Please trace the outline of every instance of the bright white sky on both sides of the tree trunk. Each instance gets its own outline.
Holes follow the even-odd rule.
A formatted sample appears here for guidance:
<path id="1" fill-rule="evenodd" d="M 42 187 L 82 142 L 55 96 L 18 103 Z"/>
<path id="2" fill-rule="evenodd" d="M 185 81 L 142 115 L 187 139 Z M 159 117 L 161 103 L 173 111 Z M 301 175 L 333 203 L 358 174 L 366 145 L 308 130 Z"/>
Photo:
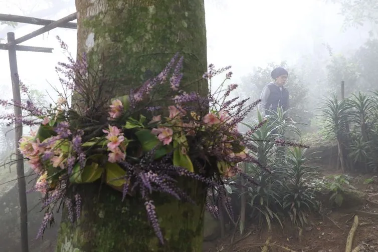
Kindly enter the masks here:
<path id="1" fill-rule="evenodd" d="M 1 13 L 24 15 L 43 8 L 51 8 L 55 1 L 62 0 L 0 0 Z M 57 20 L 75 10 L 75 1 L 68 0 L 67 8 L 49 17 Z M 216 67 L 233 66 L 234 80 L 251 73 L 254 66 L 264 66 L 268 62 L 281 60 L 295 61 L 298 56 L 312 50 L 314 29 L 319 30 L 319 16 L 324 26 L 340 27 L 342 17 L 335 8 L 324 8 L 322 0 L 207 0 L 206 22 L 208 32 L 208 63 Z M 3 26 L 2 26 L 3 27 Z M 39 26 L 27 25 L 15 29 L 16 38 L 26 35 Z M 318 31 L 319 32 L 319 31 Z M 321 31 L 320 31 L 321 33 Z M 325 40 L 338 36 L 340 30 L 328 31 Z M 52 47 L 53 54 L 18 52 L 18 69 L 21 79 L 34 88 L 44 91 L 47 81 L 58 85 L 54 71 L 57 62 L 65 59 L 56 36 L 76 53 L 76 30 L 57 28 L 43 36 L 38 36 L 22 45 Z M 329 38 L 327 38 L 329 37 Z M 3 42 L 4 43 L 4 42 Z M 348 41 L 345 41 L 347 44 Z M 12 95 L 9 73 L 8 52 L 0 51 L 0 99 Z"/>

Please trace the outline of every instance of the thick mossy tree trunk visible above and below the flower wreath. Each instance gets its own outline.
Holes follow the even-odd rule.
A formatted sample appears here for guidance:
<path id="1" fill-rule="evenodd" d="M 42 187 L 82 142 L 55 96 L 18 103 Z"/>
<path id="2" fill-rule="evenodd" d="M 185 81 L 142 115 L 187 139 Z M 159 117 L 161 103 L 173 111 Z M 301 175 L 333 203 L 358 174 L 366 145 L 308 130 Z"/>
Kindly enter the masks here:
<path id="1" fill-rule="evenodd" d="M 89 68 L 100 65 L 104 80 L 111 79 L 106 86 L 117 85 L 118 92 L 159 73 L 176 52 L 184 56 L 183 82 L 206 71 L 204 0 L 76 0 L 76 8 L 78 57 L 87 53 Z M 207 82 L 190 89 L 206 94 Z M 160 193 L 152 198 L 164 245 L 137 195 L 121 202 L 121 193 L 108 186 L 78 186 L 81 217 L 73 224 L 63 211 L 57 251 L 202 251 L 206 188 L 191 179 L 180 186 L 196 204 Z"/>

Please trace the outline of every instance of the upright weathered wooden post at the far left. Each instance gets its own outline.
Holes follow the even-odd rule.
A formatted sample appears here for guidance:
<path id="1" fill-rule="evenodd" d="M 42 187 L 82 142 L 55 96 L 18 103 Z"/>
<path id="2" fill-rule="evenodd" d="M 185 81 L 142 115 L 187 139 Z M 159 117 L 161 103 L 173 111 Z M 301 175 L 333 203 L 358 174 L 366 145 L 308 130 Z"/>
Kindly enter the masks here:
<path id="1" fill-rule="evenodd" d="M 15 34 L 8 33 L 8 43 L 13 43 L 15 41 Z M 8 49 L 9 53 L 9 66 L 11 69 L 11 79 L 12 79 L 12 89 L 13 89 L 13 100 L 15 103 L 21 102 L 20 94 L 20 80 L 17 70 L 17 57 L 16 48 L 10 46 Z M 24 157 L 21 154 L 18 146 L 19 141 L 23 135 L 23 124 L 22 121 L 18 120 L 22 118 L 22 110 L 20 107 L 15 106 L 15 117 L 17 118 L 15 122 L 15 142 L 16 142 L 16 160 L 17 160 L 17 182 L 19 187 L 19 201 L 20 201 L 20 229 L 21 229 L 21 251 L 29 252 L 29 239 L 28 239 L 28 204 L 26 200 L 26 183 L 25 183 L 25 173 L 24 173 Z"/>

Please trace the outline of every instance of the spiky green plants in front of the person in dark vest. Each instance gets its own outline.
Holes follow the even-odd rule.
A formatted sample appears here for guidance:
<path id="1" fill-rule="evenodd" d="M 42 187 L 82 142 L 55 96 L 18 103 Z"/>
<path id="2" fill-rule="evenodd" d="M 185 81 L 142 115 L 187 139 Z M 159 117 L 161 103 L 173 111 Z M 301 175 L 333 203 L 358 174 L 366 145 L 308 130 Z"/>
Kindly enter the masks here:
<path id="1" fill-rule="evenodd" d="M 259 123 L 264 119 L 257 113 Z M 281 118 L 281 120 L 280 120 Z M 253 134 L 257 160 L 270 167 L 268 172 L 256 164 L 247 163 L 246 173 L 254 177 L 256 184 L 246 183 L 249 221 L 271 229 L 273 223 L 283 228 L 285 218 L 290 218 L 296 227 L 307 223 L 307 214 L 318 208 L 315 191 L 311 183 L 316 179 L 317 167 L 308 166 L 304 157 L 306 146 L 291 147 L 285 135 L 289 131 L 300 131 L 291 122 L 282 120 L 282 111 L 265 118 Z M 248 125 L 247 125 L 248 126 Z M 253 128 L 252 126 L 249 126 Z M 275 141 L 273 141 L 276 139 Z M 280 139 L 280 140 L 278 140 Z M 232 193 L 240 195 L 238 180 L 230 182 Z M 242 185 L 243 186 L 243 185 Z"/>

